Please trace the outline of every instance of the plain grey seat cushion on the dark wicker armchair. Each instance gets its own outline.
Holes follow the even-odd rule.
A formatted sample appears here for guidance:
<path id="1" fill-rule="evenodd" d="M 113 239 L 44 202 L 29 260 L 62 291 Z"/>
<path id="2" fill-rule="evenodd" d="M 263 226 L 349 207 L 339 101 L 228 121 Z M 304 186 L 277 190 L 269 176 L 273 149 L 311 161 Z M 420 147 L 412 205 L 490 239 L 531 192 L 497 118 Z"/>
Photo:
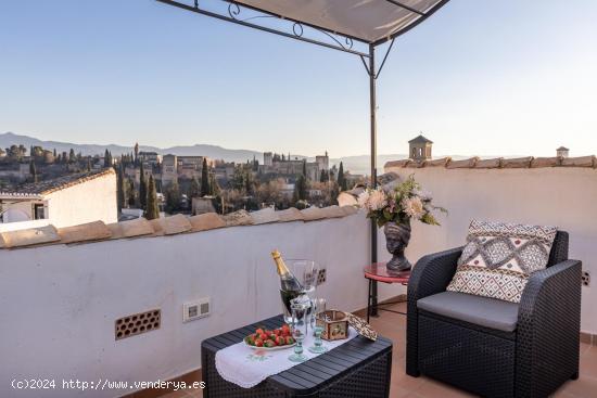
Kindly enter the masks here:
<path id="1" fill-rule="evenodd" d="M 517 329 L 518 304 L 497 298 L 443 292 L 421 298 L 417 308 L 504 332 Z"/>

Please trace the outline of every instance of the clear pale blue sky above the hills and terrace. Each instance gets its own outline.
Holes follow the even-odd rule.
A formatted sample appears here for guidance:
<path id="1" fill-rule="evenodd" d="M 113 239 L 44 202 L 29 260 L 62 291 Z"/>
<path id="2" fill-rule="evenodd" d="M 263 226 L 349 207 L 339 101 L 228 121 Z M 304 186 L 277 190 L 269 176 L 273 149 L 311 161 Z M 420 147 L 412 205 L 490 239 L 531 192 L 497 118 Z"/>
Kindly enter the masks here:
<path id="1" fill-rule="evenodd" d="M 595 0 L 452 0 L 394 44 L 379 153 L 420 131 L 442 155 L 597 153 L 595 21 Z M 368 95 L 355 55 L 156 1 L 0 0 L 0 132 L 360 155 Z"/>

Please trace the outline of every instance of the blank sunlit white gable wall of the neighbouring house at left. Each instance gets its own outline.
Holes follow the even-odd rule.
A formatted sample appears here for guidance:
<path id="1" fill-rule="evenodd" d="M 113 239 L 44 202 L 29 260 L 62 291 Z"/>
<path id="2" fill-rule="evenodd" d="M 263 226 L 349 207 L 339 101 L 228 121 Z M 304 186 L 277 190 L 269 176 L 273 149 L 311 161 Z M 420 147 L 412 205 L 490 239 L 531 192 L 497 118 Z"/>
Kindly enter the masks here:
<path id="1" fill-rule="evenodd" d="M 46 196 L 48 217 L 56 227 L 69 227 L 91 221 L 118 221 L 116 175 L 109 174 Z"/>

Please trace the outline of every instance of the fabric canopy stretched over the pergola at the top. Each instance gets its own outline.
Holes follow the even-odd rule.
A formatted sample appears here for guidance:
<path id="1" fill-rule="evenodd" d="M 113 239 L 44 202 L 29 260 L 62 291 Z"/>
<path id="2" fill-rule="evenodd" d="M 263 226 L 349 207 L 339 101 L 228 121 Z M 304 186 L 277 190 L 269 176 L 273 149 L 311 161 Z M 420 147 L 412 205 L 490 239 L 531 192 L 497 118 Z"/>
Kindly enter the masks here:
<path id="1" fill-rule="evenodd" d="M 392 38 L 446 0 L 236 0 L 288 20 L 374 43 Z"/>

